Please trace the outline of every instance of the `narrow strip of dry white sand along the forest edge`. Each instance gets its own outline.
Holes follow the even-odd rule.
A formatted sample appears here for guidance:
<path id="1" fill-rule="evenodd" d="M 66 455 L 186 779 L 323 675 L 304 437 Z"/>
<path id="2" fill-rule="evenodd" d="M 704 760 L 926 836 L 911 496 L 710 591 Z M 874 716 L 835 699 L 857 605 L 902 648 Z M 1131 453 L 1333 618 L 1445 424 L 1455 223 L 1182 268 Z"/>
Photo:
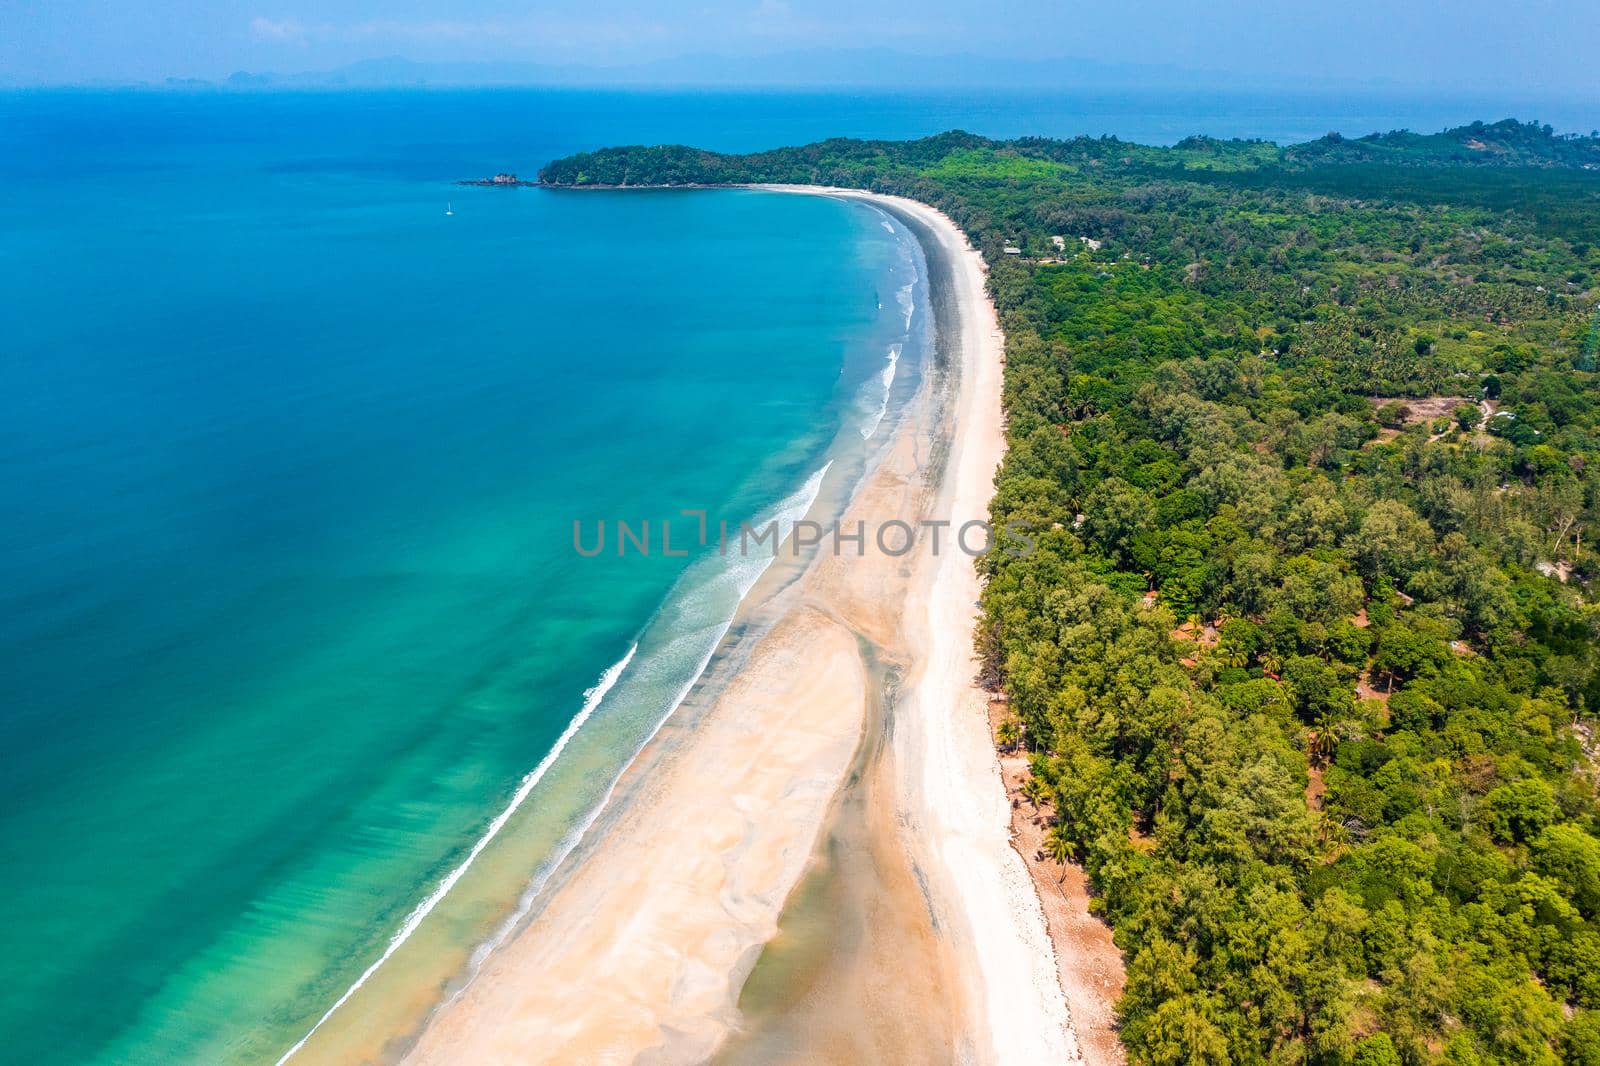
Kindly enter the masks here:
<path id="1" fill-rule="evenodd" d="M 989 517 L 1005 455 L 1005 338 L 982 256 L 947 216 L 925 205 L 915 210 L 944 245 L 954 274 L 962 387 L 938 514 L 958 527 Z M 1011 847 L 1011 805 L 989 733 L 987 696 L 974 682 L 978 571 L 958 554 L 926 555 L 922 563 L 907 603 L 909 643 L 920 655 L 894 731 L 894 759 L 901 802 L 917 818 L 914 847 L 930 853 L 939 874 L 933 895 L 955 927 L 971 996 L 968 1023 L 986 1032 L 992 1061 L 1080 1061 L 1045 912 Z"/>

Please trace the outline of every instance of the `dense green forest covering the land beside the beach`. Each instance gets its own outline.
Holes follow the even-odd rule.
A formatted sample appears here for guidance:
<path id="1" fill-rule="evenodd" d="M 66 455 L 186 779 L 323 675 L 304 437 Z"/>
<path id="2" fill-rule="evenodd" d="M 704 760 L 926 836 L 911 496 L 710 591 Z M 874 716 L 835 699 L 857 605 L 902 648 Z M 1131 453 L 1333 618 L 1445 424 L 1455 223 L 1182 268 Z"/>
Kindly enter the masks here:
<path id="1" fill-rule="evenodd" d="M 1133 1063 L 1600 1064 L 1600 141 L 618 149 L 949 213 L 1008 455 L 979 648 Z M 1008 251 L 1013 250 L 1013 251 Z"/>

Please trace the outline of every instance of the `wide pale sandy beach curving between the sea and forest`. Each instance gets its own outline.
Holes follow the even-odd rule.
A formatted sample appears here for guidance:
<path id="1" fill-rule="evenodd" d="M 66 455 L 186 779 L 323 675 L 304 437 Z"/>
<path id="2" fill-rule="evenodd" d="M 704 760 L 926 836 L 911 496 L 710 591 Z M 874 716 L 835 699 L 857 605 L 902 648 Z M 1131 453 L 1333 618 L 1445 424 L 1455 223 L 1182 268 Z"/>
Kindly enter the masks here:
<path id="1" fill-rule="evenodd" d="M 987 517 L 1003 451 L 1003 346 L 982 261 L 931 208 L 870 198 L 912 226 L 941 274 L 949 373 L 845 525 L 958 528 Z M 973 560 L 949 535 L 939 552 L 819 554 L 776 594 L 778 621 L 693 731 L 669 723 L 603 840 L 434 1013 L 406 1061 L 1077 1060 L 973 685 L 976 599 Z M 842 840 L 854 858 L 822 847 Z M 741 989 L 779 932 L 792 938 L 786 906 L 829 853 L 845 903 L 810 936 L 848 943 L 824 944 L 826 980 L 795 992 L 814 1024 L 763 1032 L 789 1012 L 747 1016 Z"/>

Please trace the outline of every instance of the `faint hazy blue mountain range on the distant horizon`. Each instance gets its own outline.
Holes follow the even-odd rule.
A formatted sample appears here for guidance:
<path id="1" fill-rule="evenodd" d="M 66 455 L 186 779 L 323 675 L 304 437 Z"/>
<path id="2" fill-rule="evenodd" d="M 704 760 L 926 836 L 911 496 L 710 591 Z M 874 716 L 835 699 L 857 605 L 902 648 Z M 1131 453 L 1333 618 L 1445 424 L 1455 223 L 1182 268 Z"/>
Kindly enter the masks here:
<path id="1" fill-rule="evenodd" d="M 192 86 L 195 80 L 171 80 Z M 1237 77 L 1173 66 L 1094 59 L 997 59 L 992 56 L 917 56 L 886 48 L 818 48 L 766 56 L 678 56 L 627 66 L 557 66 L 534 62 L 416 62 L 400 56 L 365 59 L 333 70 L 253 74 L 240 70 L 213 83 L 235 90 L 387 88 L 467 85 L 675 85 L 811 88 L 1128 88 L 1238 86 Z"/>

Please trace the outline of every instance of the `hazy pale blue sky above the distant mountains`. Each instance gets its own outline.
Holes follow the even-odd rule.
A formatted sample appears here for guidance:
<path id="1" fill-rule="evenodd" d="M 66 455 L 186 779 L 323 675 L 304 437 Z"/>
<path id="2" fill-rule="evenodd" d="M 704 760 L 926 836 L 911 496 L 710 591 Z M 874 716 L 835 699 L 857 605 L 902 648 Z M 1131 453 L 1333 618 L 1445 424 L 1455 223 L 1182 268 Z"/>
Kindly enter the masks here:
<path id="1" fill-rule="evenodd" d="M 886 46 L 1600 96 L 1592 0 L 0 0 L 0 82 Z"/>

